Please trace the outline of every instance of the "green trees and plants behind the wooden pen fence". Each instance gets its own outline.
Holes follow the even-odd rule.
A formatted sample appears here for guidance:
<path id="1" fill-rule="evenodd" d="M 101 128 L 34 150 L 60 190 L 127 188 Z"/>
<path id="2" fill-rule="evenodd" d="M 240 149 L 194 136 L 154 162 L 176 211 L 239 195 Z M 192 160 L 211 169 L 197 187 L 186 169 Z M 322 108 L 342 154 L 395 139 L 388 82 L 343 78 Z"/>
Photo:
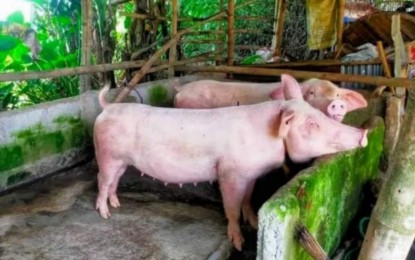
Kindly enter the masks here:
<path id="1" fill-rule="evenodd" d="M 21 12 L 15 12 L 0 21 L 0 73 L 53 70 L 77 67 L 81 60 L 82 13 L 81 0 L 26 0 L 33 3 L 33 19 L 25 21 Z M 110 6 L 108 0 L 94 0 L 94 50 L 92 63 L 120 62 L 125 60 L 148 59 L 160 47 L 170 31 L 170 22 L 152 22 L 137 20 L 123 13 L 147 13 L 170 18 L 170 1 L 136 0 Z M 240 1 L 236 1 L 236 5 Z M 226 10 L 227 1 L 222 8 L 219 0 L 181 0 L 180 17 L 192 21 L 183 21 L 179 30 L 191 26 L 195 21 Z M 271 7 L 271 8 L 270 8 Z M 236 12 L 237 16 L 267 16 L 272 19 L 273 0 L 248 5 Z M 122 13 L 121 13 L 122 12 Z M 235 29 L 252 29 L 258 33 L 237 33 L 237 45 L 270 46 L 272 40 L 272 20 L 236 20 Z M 200 31 L 226 32 L 227 21 L 214 21 L 201 26 Z M 25 34 L 30 30 L 36 34 L 40 52 L 34 53 Z M 226 34 L 190 34 L 184 37 L 187 42 L 178 46 L 179 58 L 193 57 L 211 51 L 226 54 Z M 194 41 L 212 40 L 217 43 L 194 43 Z M 193 41 L 193 42 L 189 42 Z M 150 46 L 157 42 L 157 45 Z M 152 47 L 139 52 L 145 47 Z M 237 49 L 236 60 L 241 60 L 255 52 L 254 49 Z M 168 58 L 168 54 L 162 57 Z M 107 73 L 113 82 L 115 79 L 128 81 L 132 71 Z M 147 78 L 151 80 L 152 78 Z M 99 87 L 103 75 L 94 76 L 92 87 Z M 120 82 L 118 82 L 120 83 Z M 52 79 L 0 82 L 0 110 L 10 110 L 33 104 L 55 100 L 79 94 L 79 77 L 67 76 Z"/>

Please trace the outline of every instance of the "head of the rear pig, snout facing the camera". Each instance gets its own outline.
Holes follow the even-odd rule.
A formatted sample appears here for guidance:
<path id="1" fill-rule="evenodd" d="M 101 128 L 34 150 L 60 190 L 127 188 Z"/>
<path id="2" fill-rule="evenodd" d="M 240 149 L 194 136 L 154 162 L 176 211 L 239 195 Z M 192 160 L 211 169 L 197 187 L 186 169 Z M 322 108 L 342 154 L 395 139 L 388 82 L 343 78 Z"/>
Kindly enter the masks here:
<path id="1" fill-rule="evenodd" d="M 328 117 L 341 122 L 344 116 L 355 109 L 367 106 L 365 98 L 357 91 L 339 88 L 328 80 L 310 79 L 301 83 L 304 100 L 325 113 Z M 284 98 L 283 89 L 276 88 L 270 97 Z"/>

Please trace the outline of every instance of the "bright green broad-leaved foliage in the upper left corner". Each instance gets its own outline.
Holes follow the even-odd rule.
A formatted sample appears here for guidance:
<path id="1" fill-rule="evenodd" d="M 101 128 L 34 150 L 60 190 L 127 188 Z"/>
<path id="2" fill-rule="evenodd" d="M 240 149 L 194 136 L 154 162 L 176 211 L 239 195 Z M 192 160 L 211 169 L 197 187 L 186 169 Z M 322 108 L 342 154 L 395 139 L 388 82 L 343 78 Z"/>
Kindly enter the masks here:
<path id="1" fill-rule="evenodd" d="M 35 19 L 24 21 L 15 12 L 0 21 L 0 73 L 44 71 L 76 67 L 80 61 L 80 1 L 27 0 L 35 5 Z M 27 30 L 36 31 L 41 47 L 32 58 L 30 46 L 24 42 Z M 16 109 L 32 104 L 78 94 L 78 77 L 0 82 L 0 110 Z"/>

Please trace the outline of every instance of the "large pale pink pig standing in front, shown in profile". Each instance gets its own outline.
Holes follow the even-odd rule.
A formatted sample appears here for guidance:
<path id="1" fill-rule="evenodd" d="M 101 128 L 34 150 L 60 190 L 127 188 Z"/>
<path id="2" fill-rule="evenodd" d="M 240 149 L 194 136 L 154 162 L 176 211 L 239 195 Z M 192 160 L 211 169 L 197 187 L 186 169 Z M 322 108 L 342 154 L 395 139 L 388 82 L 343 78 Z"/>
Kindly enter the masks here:
<path id="1" fill-rule="evenodd" d="M 103 218 L 120 206 L 116 191 L 128 165 L 164 183 L 219 182 L 229 240 L 242 249 L 242 215 L 255 180 L 280 167 L 285 154 L 295 162 L 365 147 L 367 130 L 330 119 L 304 101 L 298 82 L 282 76 L 286 100 L 216 109 L 175 109 L 134 103 L 107 104 L 94 125 L 98 172 L 96 209 Z"/>

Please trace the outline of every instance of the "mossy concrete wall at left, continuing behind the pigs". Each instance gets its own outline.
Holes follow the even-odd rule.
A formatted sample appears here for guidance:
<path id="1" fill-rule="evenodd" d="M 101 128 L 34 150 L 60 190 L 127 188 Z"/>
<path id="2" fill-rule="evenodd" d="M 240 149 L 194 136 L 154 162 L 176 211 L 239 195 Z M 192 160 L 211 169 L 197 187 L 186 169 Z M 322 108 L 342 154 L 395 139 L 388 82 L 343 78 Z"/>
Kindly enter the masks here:
<path id="1" fill-rule="evenodd" d="M 181 77 L 179 84 L 202 78 Z M 171 105 L 174 84 L 171 79 L 139 84 L 126 102 Z M 108 100 L 117 92 L 111 90 Z M 102 111 L 97 94 L 0 113 L 0 193 L 93 158 L 93 124 Z"/>

